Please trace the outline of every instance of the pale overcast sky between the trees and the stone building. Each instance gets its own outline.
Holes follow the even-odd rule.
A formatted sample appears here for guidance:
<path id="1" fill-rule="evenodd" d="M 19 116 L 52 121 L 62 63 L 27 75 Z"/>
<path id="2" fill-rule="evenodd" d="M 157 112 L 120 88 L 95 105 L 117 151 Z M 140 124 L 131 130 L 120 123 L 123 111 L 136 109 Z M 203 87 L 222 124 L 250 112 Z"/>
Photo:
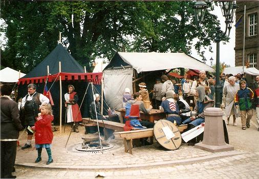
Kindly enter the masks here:
<path id="1" fill-rule="evenodd" d="M 222 15 L 221 9 L 220 7 L 215 7 L 214 11 L 212 11 L 213 14 L 218 16 L 218 19 L 220 20 L 221 23 L 221 30 L 225 31 L 225 18 Z M 230 39 L 229 42 L 226 43 L 225 45 L 221 42 L 220 43 L 220 62 L 225 62 L 225 64 L 230 65 L 231 67 L 235 66 L 235 51 L 234 51 L 234 47 L 235 47 L 235 20 L 234 23 L 232 24 L 232 28 L 230 31 Z M 211 42 L 212 43 L 212 51 L 213 53 L 209 52 L 209 50 L 207 49 L 203 49 L 205 51 L 205 58 L 207 59 L 207 65 L 210 65 L 210 61 L 209 59 L 212 57 L 214 59 L 213 64 L 216 63 L 216 43 Z M 198 55 L 198 53 L 196 52 L 196 50 L 194 48 L 191 49 L 191 56 L 197 58 L 197 59 L 202 59 L 201 56 Z"/>

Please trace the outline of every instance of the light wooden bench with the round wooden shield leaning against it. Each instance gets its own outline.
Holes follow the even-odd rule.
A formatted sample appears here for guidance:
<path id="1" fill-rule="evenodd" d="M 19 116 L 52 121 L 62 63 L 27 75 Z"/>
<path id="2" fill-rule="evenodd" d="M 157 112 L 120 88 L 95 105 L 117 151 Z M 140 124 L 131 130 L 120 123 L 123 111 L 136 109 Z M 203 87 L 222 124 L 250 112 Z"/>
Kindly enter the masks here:
<path id="1" fill-rule="evenodd" d="M 177 128 L 179 129 L 180 132 L 183 132 L 184 129 L 187 129 L 187 124 L 177 126 Z M 130 154 L 132 154 L 132 149 L 133 149 L 132 142 L 137 138 L 152 137 L 150 138 L 150 142 L 153 144 L 153 136 L 154 136 L 153 128 L 114 132 L 114 134 L 120 135 L 120 137 L 124 138 L 125 152 L 129 152 Z"/>

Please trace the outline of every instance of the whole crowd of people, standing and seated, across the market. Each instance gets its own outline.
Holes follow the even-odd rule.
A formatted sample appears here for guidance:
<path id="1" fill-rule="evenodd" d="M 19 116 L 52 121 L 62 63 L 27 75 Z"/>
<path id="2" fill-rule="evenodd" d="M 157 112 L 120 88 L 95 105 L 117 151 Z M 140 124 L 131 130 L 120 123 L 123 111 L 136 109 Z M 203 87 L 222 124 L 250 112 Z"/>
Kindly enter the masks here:
<path id="1" fill-rule="evenodd" d="M 179 97 L 179 87 L 176 82 L 171 81 L 168 76 L 162 75 L 156 78 L 152 103 L 149 100 L 148 90 L 145 83 L 139 84 L 139 92 L 131 93 L 130 88 L 125 89 L 122 95 L 122 107 L 125 108 L 124 130 L 131 130 L 133 127 L 153 128 L 154 123 L 140 119 L 140 111 L 148 114 L 150 110 L 160 110 L 166 114 L 166 120 L 180 124 L 188 124 L 188 128 L 199 126 L 204 123 L 204 111 L 214 106 L 215 78 L 208 78 L 206 72 L 201 70 L 199 77 L 191 80 L 185 74 L 181 79 L 183 98 Z M 259 124 L 259 76 L 251 88 L 248 88 L 246 78 L 241 74 L 222 74 L 220 77 L 220 96 L 222 108 L 225 108 L 226 124 L 230 125 L 230 116 L 233 116 L 233 126 L 236 125 L 236 118 L 241 116 L 242 129 L 250 127 L 250 120 L 253 108 L 256 109 L 256 121 Z M 1 87 L 1 178 L 15 178 L 14 162 L 16 156 L 17 140 L 19 131 L 23 129 L 19 120 L 17 103 L 11 98 L 12 89 L 8 85 Z M 112 118 L 102 115 L 100 112 L 100 95 L 94 94 L 93 102 L 90 104 L 90 117 L 97 120 L 109 120 Z M 187 98 L 192 96 L 192 103 L 195 108 L 191 110 L 190 101 Z M 41 151 L 45 148 L 48 153 L 47 165 L 53 162 L 51 143 L 53 132 L 51 123 L 53 121 L 52 109 L 49 98 L 36 92 L 36 85 L 28 85 L 28 94 L 21 102 L 21 110 L 25 113 L 25 125 L 27 130 L 27 142 L 21 149 L 32 148 L 32 137 L 35 133 L 35 147 L 38 156 L 35 163 L 41 161 Z M 79 132 L 78 123 L 82 116 L 77 105 L 78 95 L 73 85 L 68 86 L 68 92 L 64 94 L 64 106 L 66 107 L 67 123 L 71 124 L 72 132 Z M 259 131 L 259 128 L 258 128 Z M 104 129 L 107 136 L 114 138 L 113 130 Z M 193 142 L 193 141 L 192 141 Z M 194 141 L 199 142 L 199 141 Z M 144 144 L 148 142 L 146 139 Z"/>

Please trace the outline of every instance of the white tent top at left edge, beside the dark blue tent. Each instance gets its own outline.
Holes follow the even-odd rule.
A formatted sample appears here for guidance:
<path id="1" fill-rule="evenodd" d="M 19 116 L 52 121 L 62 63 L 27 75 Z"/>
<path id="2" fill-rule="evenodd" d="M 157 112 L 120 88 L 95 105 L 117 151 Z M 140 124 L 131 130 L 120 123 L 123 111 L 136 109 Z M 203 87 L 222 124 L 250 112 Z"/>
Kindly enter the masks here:
<path id="1" fill-rule="evenodd" d="M 25 76 L 25 73 L 20 73 L 9 67 L 0 70 L 0 82 L 6 83 L 16 83 L 18 82 L 19 77 Z"/>

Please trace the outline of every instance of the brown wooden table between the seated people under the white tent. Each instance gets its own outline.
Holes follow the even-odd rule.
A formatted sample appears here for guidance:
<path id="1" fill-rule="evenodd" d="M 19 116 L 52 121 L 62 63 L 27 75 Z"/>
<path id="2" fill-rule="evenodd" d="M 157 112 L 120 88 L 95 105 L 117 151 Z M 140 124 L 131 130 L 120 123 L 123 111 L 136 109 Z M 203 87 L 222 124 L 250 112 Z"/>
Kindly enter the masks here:
<path id="1" fill-rule="evenodd" d="M 121 116 L 124 117 L 126 110 L 125 109 L 120 109 L 118 110 L 121 113 Z M 143 113 L 140 111 L 140 118 L 141 120 L 147 120 L 149 122 L 154 123 L 154 121 L 161 120 L 163 118 L 166 118 L 166 115 L 164 112 L 160 112 L 158 109 L 152 109 L 148 114 Z"/>

